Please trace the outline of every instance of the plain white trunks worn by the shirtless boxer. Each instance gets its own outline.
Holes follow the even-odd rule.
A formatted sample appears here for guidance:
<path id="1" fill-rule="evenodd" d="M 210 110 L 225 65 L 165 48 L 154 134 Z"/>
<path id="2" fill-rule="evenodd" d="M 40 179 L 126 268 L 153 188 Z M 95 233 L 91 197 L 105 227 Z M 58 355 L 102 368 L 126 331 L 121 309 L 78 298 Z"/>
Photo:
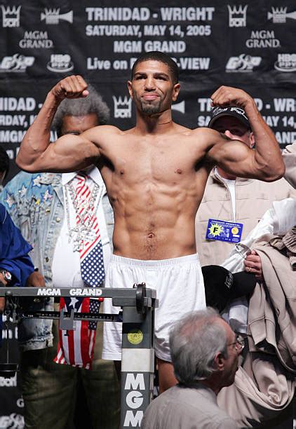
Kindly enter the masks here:
<path id="1" fill-rule="evenodd" d="M 105 287 L 133 287 L 134 283 L 145 282 L 146 287 L 156 290 L 159 308 L 155 313 L 155 354 L 171 362 L 168 339 L 173 323 L 189 311 L 206 307 L 198 255 L 158 261 L 112 255 L 105 280 Z M 107 298 L 104 311 L 119 313 L 119 307 L 112 306 L 112 299 Z M 103 359 L 121 360 L 121 332 L 121 323 L 104 323 Z"/>

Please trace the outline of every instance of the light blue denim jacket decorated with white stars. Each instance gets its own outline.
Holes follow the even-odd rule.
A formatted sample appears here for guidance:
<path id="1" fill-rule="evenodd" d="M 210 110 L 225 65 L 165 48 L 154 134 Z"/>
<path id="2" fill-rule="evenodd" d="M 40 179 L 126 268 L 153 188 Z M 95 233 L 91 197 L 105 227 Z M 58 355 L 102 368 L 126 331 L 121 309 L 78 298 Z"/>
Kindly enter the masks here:
<path id="1" fill-rule="evenodd" d="M 46 287 L 52 287 L 51 264 L 55 244 L 64 219 L 62 175 L 56 173 L 20 172 L 8 182 L 0 194 L 0 202 L 20 228 L 22 236 L 33 247 L 30 256 L 35 267 L 45 278 Z M 114 216 L 107 193 L 103 192 L 109 241 L 112 243 Z M 35 310 L 53 310 L 53 299 L 34 304 Z M 23 350 L 36 350 L 53 345 L 52 320 L 25 319 L 18 327 L 18 338 Z"/>

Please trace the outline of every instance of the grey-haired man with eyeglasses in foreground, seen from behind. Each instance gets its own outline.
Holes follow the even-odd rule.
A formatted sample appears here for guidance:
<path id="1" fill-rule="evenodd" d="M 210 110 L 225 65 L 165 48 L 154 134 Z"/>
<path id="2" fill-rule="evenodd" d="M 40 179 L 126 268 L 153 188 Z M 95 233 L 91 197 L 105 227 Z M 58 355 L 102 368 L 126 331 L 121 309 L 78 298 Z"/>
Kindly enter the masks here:
<path id="1" fill-rule="evenodd" d="M 234 382 L 243 347 L 243 338 L 213 308 L 177 322 L 170 332 L 170 353 L 178 383 L 149 405 L 141 428 L 237 428 L 218 407 L 216 395 Z"/>

